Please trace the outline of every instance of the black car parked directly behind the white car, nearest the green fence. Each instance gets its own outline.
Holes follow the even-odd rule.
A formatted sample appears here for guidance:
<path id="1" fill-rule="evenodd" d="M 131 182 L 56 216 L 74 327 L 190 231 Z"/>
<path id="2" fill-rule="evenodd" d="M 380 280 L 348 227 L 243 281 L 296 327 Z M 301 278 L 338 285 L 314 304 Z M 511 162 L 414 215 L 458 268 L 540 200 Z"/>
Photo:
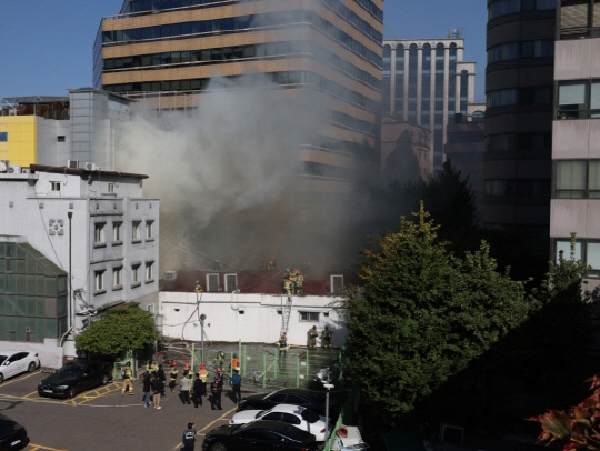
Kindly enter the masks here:
<path id="1" fill-rule="evenodd" d="M 278 404 L 293 404 L 308 408 L 320 415 L 326 414 L 326 392 L 302 390 L 302 389 L 281 389 L 270 393 L 257 393 L 242 398 L 238 410 L 264 410 L 271 409 Z M 334 417 L 340 405 L 339 400 L 332 393 L 329 397 L 330 418 Z"/>

